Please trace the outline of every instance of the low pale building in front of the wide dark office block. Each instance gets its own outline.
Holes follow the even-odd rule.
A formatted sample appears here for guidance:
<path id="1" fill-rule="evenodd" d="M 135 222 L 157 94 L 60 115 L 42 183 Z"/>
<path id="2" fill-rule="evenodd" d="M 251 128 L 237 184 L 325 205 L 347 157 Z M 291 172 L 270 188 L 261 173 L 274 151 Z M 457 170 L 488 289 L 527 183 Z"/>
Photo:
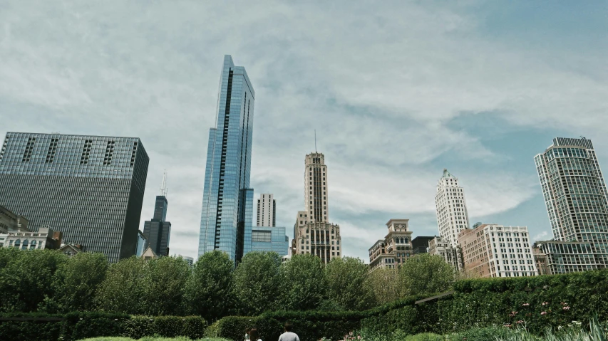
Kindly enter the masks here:
<path id="1" fill-rule="evenodd" d="M 9 231 L 2 235 L 2 244 L 5 248 L 19 248 L 20 250 L 51 249 L 61 246 L 62 234 L 49 227 L 41 227 L 38 231 Z"/>

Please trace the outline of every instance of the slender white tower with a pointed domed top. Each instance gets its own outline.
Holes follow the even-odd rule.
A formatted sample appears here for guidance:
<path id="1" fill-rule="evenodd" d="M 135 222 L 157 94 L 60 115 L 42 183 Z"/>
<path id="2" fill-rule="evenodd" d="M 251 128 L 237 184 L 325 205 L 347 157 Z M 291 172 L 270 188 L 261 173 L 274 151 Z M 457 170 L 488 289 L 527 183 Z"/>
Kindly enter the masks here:
<path id="1" fill-rule="evenodd" d="M 463 187 L 458 186 L 458 178 L 448 169 L 443 169 L 443 176 L 437 183 L 435 204 L 441 239 L 456 248 L 458 232 L 468 228 L 469 216 Z"/>

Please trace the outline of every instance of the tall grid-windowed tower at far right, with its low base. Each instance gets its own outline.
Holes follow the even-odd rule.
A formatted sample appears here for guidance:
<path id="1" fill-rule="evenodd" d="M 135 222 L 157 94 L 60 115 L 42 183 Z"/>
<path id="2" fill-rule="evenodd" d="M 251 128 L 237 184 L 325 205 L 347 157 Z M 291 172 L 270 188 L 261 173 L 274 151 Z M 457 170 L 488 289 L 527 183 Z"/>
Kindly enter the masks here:
<path id="1" fill-rule="evenodd" d="M 591 140 L 556 137 L 534 160 L 555 240 L 540 244 L 551 271 L 606 268 L 608 192 Z"/>

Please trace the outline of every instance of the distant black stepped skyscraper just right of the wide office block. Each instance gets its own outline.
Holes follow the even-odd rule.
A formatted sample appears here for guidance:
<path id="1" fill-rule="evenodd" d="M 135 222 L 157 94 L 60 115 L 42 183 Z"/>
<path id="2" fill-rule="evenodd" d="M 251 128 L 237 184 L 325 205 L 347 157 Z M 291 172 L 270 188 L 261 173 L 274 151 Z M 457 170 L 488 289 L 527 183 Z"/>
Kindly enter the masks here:
<path id="1" fill-rule="evenodd" d="M 158 256 L 169 256 L 171 223 L 165 221 L 167 218 L 167 206 L 168 201 L 166 196 L 156 196 L 154 216 L 152 220 L 145 221 L 143 224 L 143 235 L 145 238 L 148 238 L 148 245 L 145 248 L 150 246 L 152 251 Z"/>

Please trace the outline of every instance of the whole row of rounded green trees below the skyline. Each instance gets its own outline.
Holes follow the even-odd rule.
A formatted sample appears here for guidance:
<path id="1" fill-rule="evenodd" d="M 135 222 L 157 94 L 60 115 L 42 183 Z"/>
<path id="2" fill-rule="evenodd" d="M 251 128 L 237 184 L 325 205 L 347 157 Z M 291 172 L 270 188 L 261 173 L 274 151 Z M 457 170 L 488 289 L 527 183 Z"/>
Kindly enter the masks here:
<path id="1" fill-rule="evenodd" d="M 405 295 L 438 293 L 453 283 L 439 256 L 410 258 L 399 269 L 369 272 L 359 258 L 324 266 L 311 255 L 281 263 L 277 253 L 248 253 L 235 268 L 220 251 L 194 266 L 182 258 L 128 258 L 108 265 L 101 253 L 0 248 L 0 311 L 100 310 L 135 315 L 258 315 L 267 310 L 364 310 Z"/>

